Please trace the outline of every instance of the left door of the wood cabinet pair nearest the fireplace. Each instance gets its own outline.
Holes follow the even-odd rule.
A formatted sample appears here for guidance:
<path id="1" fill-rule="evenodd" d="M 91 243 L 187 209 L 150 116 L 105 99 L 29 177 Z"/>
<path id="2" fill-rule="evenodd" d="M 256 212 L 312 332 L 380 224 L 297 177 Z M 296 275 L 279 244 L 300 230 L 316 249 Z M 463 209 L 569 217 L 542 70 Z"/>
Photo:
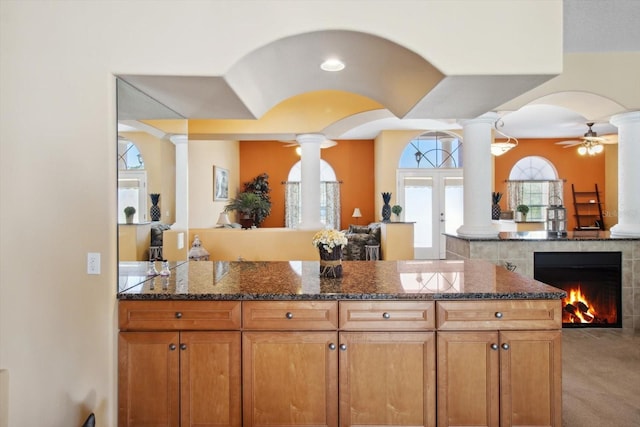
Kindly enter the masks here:
<path id="1" fill-rule="evenodd" d="M 438 426 L 499 424 L 497 332 L 438 333 Z"/>

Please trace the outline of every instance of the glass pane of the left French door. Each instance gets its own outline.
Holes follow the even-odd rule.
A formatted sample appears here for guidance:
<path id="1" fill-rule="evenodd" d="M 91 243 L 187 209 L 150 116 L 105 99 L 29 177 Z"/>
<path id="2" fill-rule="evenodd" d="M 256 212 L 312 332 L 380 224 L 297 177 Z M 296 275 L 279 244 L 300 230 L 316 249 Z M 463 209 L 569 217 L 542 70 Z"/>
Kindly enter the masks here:
<path id="1" fill-rule="evenodd" d="M 406 177 L 404 179 L 405 220 L 414 222 L 414 247 L 433 246 L 433 178 Z"/>

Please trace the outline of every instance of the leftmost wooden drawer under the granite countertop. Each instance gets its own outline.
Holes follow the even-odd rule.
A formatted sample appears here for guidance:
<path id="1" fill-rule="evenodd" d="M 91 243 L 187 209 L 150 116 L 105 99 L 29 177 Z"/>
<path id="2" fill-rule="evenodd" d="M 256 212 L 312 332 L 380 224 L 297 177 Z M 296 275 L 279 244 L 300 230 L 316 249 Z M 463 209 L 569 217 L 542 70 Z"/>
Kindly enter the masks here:
<path id="1" fill-rule="evenodd" d="M 240 329 L 239 301 L 120 301 L 121 330 Z"/>

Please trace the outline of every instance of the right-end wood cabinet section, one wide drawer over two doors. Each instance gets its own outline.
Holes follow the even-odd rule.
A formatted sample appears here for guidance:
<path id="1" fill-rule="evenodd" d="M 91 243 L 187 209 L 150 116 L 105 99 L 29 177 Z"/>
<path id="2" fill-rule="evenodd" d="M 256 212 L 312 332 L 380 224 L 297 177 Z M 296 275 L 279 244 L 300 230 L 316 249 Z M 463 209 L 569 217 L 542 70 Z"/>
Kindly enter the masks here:
<path id="1" fill-rule="evenodd" d="M 438 426 L 560 427 L 560 309 L 559 301 L 438 303 Z M 525 319 L 539 330 L 516 330 Z"/>

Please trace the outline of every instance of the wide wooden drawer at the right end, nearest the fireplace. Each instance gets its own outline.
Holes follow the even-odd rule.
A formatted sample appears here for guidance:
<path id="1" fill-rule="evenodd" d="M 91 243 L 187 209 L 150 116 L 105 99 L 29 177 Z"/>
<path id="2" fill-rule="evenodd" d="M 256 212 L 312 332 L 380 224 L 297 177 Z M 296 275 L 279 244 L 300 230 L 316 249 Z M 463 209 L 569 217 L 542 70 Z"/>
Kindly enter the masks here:
<path id="1" fill-rule="evenodd" d="M 560 329 L 560 300 L 439 301 L 438 330 Z"/>

